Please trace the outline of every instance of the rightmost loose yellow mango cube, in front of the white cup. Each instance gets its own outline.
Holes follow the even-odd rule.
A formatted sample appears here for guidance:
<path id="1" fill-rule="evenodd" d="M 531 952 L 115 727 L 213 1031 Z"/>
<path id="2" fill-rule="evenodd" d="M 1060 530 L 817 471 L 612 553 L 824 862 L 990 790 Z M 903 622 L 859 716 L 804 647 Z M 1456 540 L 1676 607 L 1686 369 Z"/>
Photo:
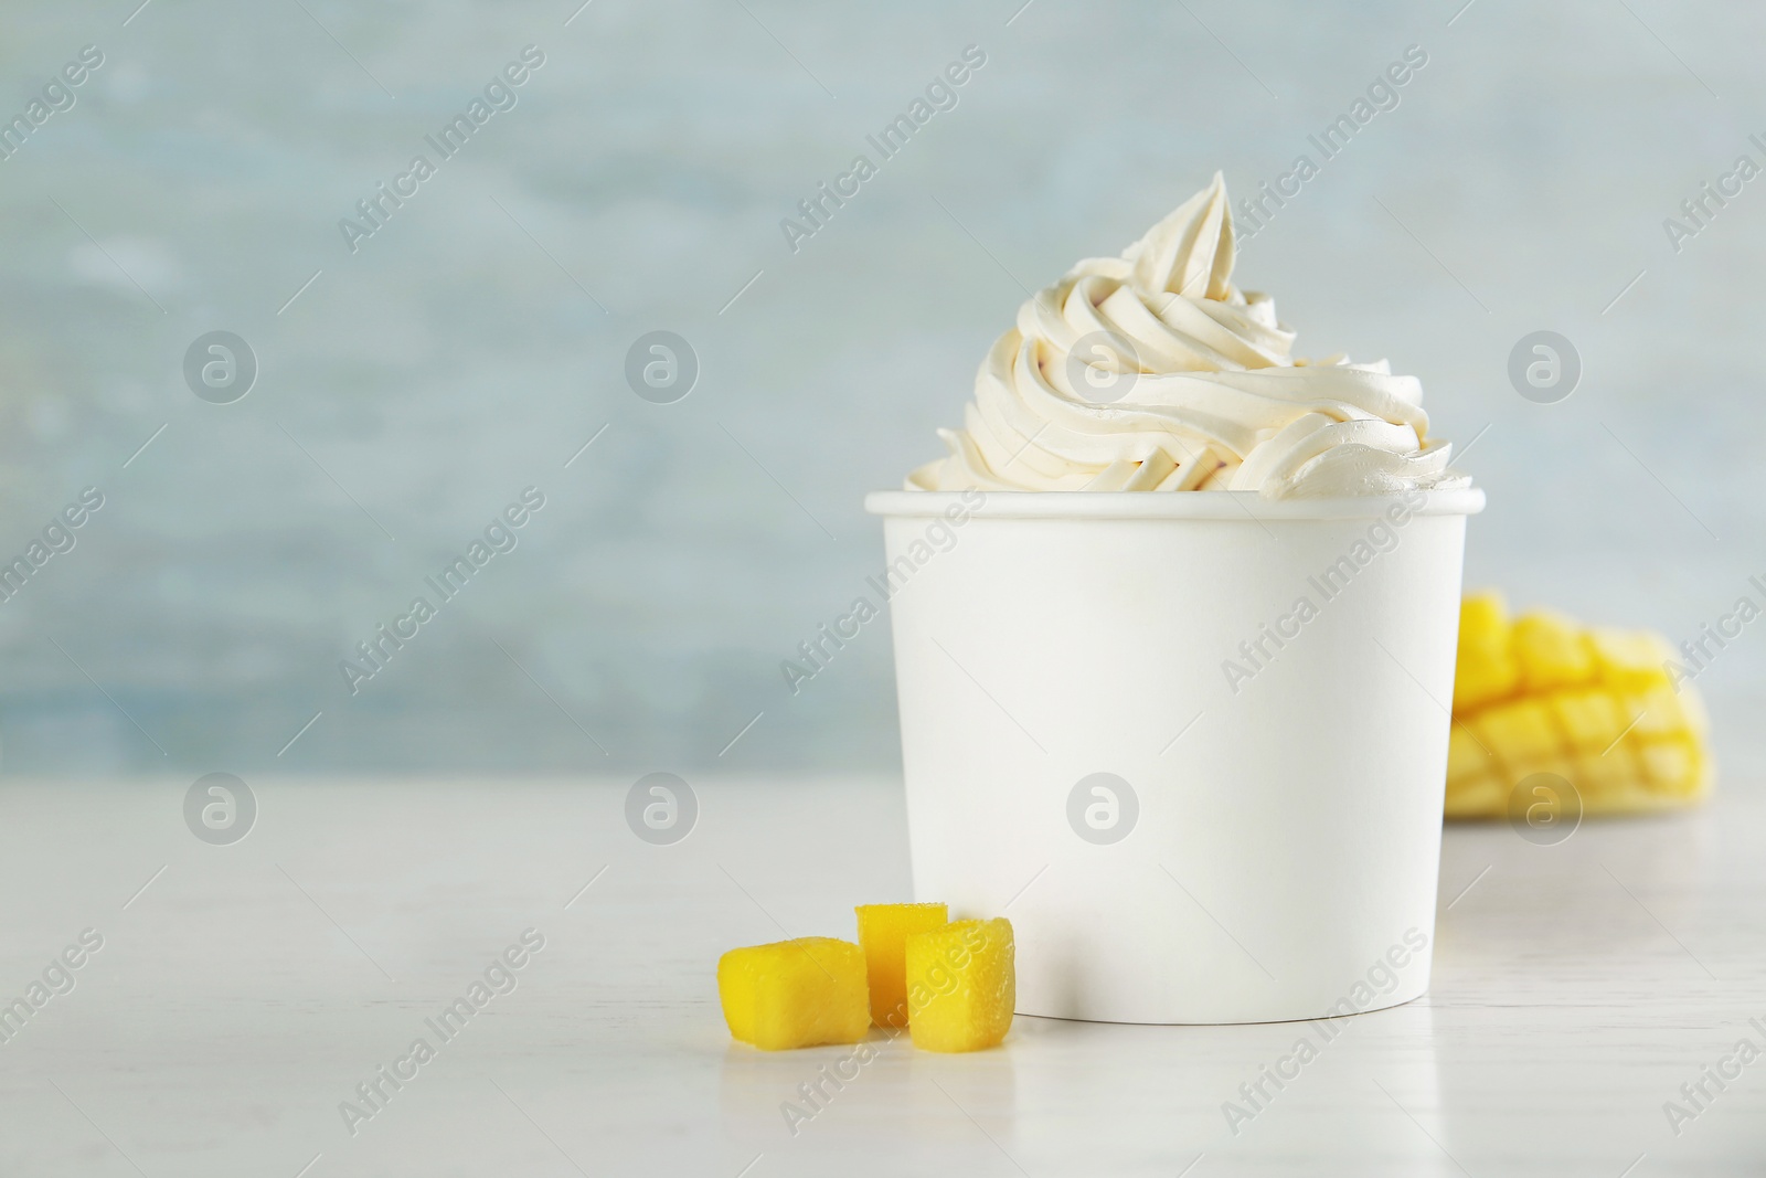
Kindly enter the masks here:
<path id="1" fill-rule="evenodd" d="M 908 1030 L 925 1051 L 982 1051 L 1012 1030 L 1012 922 L 955 920 L 908 934 Z"/>

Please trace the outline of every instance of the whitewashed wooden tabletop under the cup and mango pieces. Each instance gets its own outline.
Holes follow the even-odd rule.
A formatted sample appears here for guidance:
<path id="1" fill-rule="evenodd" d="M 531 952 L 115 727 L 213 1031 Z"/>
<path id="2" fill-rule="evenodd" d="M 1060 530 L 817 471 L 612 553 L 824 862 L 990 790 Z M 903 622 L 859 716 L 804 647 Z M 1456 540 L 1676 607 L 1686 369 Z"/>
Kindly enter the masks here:
<path id="1" fill-rule="evenodd" d="M 189 784 L 0 784 L 0 1003 L 102 936 L 0 1042 L 7 1178 L 1766 1173 L 1766 1060 L 1664 1113 L 1766 1047 L 1766 800 L 1736 782 L 1551 848 L 1450 828 L 1432 993 L 1339 1023 L 1236 1134 L 1222 1104 L 1314 1028 L 1021 1017 L 973 1056 L 879 1044 L 819 1107 L 798 1086 L 848 1049 L 731 1046 L 719 952 L 908 895 L 897 782 L 696 781 L 671 846 L 627 828 L 630 781 L 261 779 L 230 846 Z"/>

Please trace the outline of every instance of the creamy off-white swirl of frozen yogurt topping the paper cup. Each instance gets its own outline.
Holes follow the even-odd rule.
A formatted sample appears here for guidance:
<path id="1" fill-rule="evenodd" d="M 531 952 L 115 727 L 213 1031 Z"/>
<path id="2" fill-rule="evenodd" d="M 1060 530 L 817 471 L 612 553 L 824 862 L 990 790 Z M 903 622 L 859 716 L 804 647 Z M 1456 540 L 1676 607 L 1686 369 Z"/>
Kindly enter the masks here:
<path id="1" fill-rule="evenodd" d="M 1017 309 L 920 491 L 1257 491 L 1466 486 L 1429 440 L 1422 381 L 1385 360 L 1291 355 L 1268 295 L 1233 286 L 1226 182 L 1121 258 L 1090 258 Z"/>

